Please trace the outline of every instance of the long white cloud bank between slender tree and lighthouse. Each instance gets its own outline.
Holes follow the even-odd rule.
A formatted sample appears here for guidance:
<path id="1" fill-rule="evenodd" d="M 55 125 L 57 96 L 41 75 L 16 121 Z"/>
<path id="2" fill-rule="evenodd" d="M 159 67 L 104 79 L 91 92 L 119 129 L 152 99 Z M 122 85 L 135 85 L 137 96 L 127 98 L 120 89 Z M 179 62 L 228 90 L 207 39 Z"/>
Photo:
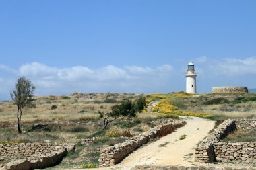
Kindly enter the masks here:
<path id="1" fill-rule="evenodd" d="M 24 75 L 36 85 L 40 95 L 56 93 L 89 92 L 134 92 L 142 93 L 167 85 L 174 69 L 171 65 L 159 67 L 108 65 L 98 69 L 85 66 L 69 68 L 50 67 L 38 62 L 21 65 L 15 79 Z"/>

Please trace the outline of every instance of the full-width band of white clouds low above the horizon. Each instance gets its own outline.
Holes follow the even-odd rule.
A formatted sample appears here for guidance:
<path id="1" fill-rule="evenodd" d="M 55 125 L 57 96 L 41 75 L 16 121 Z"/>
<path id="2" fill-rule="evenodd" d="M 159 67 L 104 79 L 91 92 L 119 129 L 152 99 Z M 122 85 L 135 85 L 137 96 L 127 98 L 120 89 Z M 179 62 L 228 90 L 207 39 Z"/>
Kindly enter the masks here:
<path id="1" fill-rule="evenodd" d="M 68 68 L 51 67 L 39 62 L 21 65 L 18 70 L 6 65 L 0 65 L 0 97 L 9 97 L 18 77 L 24 75 L 36 85 L 38 95 L 63 95 L 73 92 L 81 93 L 166 93 L 170 91 L 185 91 L 185 69 L 178 70 L 181 65 L 160 65 L 158 67 L 108 65 L 98 69 L 86 66 Z M 256 57 L 245 59 L 224 58 L 214 60 L 206 56 L 195 59 L 195 69 L 198 73 L 199 86 L 210 89 L 212 83 L 230 82 L 235 78 L 236 84 L 247 84 L 255 87 Z M 250 79 L 247 80 L 247 77 Z M 205 82 L 204 82 L 205 81 Z M 241 82 L 240 82 L 241 81 Z M 243 82 L 242 82 L 243 81 Z M 251 84 L 250 84 L 251 83 Z"/>

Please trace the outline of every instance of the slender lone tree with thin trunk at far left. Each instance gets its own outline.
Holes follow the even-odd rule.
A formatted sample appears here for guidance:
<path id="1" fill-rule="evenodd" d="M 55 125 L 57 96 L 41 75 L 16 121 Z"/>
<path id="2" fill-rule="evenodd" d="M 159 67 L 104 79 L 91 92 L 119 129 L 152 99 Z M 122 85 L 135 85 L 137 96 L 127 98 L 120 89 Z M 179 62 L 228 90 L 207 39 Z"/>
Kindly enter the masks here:
<path id="1" fill-rule="evenodd" d="M 30 104 L 32 101 L 33 91 L 36 89 L 32 85 L 31 81 L 26 79 L 26 77 L 20 77 L 17 80 L 15 89 L 11 92 L 11 99 L 17 105 L 17 126 L 18 132 L 21 134 L 21 120 L 22 120 L 22 111 L 26 105 Z"/>

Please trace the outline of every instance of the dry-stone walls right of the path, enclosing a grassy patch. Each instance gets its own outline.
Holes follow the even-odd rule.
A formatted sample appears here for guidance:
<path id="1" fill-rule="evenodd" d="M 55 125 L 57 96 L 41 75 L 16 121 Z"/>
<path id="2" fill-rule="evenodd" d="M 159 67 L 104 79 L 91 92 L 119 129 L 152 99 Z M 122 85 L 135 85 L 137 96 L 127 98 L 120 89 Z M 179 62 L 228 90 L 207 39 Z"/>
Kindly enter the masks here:
<path id="1" fill-rule="evenodd" d="M 201 163 L 256 163 L 256 142 L 220 142 L 236 129 L 256 130 L 256 119 L 229 119 L 195 148 L 195 161 Z"/>

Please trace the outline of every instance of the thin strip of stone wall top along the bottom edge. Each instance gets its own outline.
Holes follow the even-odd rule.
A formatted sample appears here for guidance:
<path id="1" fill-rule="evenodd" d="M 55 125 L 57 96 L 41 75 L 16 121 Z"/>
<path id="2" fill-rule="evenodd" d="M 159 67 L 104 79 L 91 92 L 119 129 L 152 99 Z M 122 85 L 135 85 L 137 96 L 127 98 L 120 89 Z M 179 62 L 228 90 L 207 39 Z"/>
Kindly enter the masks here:
<path id="1" fill-rule="evenodd" d="M 178 165 L 137 165 L 133 167 L 131 170 L 256 170 L 256 168 L 244 165 L 240 167 L 220 167 L 220 166 L 193 166 L 193 167 L 185 167 Z"/>

